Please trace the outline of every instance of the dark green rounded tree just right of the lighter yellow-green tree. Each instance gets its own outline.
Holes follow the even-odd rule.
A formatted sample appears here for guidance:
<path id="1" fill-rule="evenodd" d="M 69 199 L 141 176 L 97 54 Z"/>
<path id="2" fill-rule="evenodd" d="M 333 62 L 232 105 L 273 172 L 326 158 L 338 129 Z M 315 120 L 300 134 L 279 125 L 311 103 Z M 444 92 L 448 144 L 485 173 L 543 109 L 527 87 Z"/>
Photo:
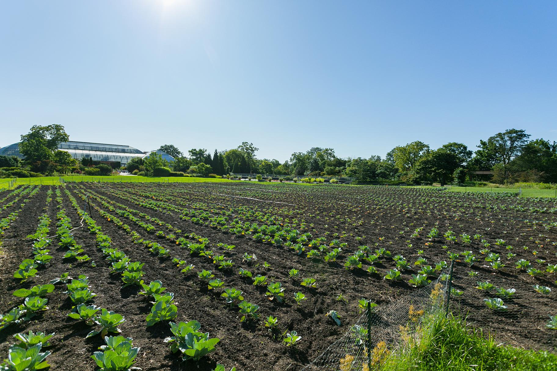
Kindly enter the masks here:
<path id="1" fill-rule="evenodd" d="M 443 186 L 452 181 L 459 166 L 459 157 L 456 154 L 440 148 L 423 156 L 414 166 L 414 174 L 416 180 L 438 181 Z"/>

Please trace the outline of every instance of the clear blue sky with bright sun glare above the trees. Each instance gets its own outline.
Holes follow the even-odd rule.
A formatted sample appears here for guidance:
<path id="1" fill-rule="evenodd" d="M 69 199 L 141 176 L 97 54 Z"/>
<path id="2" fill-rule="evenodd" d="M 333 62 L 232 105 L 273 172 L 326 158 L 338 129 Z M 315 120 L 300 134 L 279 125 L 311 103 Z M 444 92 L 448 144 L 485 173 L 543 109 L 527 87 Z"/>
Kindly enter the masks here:
<path id="1" fill-rule="evenodd" d="M 2 1 L 0 146 L 71 140 L 257 157 L 557 140 L 557 2 Z"/>

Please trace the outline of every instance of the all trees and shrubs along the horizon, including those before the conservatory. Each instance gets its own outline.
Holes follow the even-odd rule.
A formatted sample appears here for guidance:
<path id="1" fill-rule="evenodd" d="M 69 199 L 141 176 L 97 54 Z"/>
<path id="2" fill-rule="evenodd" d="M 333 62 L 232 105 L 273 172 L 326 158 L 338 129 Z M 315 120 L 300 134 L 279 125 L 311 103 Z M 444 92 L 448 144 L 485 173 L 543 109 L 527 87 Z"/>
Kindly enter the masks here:
<path id="1" fill-rule="evenodd" d="M 57 144 L 67 140 L 69 136 L 61 125 L 33 126 L 29 133 L 21 136 L 19 151 L 24 156 L 21 163 L 17 157 L 0 156 L 0 176 L 7 176 L 7 171 L 28 171 L 37 175 L 111 173 L 109 166 L 92 164 L 90 159 L 78 163 L 68 152 L 57 150 Z M 424 142 L 414 141 L 394 147 L 385 157 L 369 158 L 342 159 L 336 156 L 334 149 L 312 147 L 305 152 L 294 152 L 289 160 L 280 162 L 258 159 L 256 152 L 259 149 L 249 142 L 242 142 L 231 150 L 214 150 L 212 154 L 206 149 L 194 148 L 185 155 L 177 146 L 170 144 L 161 146 L 160 150 L 173 156 L 174 161 L 168 163 L 162 156 L 153 153 L 145 160 L 131 160 L 127 165 L 128 171 L 155 175 L 155 169 L 168 167 L 169 171 L 180 175 L 346 176 L 358 182 L 439 182 L 442 185 L 475 180 L 500 184 L 557 182 L 557 143 L 543 138 L 531 140 L 525 130 L 515 128 L 480 140 L 475 150 L 459 142 L 431 149 Z M 480 170 L 483 174 L 478 174 Z"/>

